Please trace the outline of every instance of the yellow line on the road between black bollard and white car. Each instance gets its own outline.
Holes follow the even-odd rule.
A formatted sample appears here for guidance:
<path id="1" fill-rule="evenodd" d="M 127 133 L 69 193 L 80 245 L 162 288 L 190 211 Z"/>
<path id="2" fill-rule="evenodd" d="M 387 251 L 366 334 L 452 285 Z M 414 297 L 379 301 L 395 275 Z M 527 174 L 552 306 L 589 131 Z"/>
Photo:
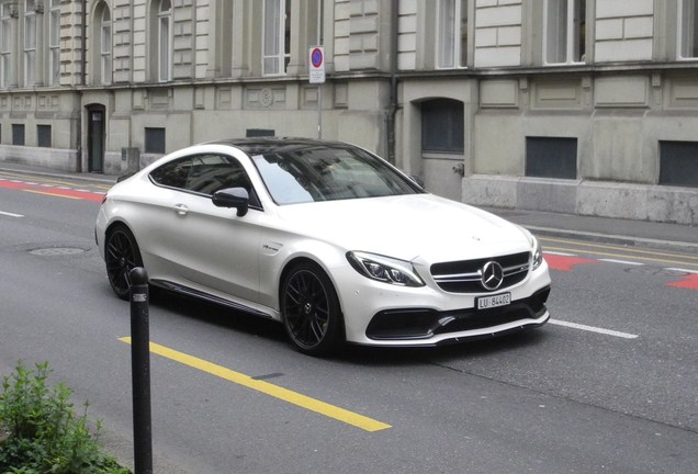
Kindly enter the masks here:
<path id="1" fill-rule="evenodd" d="M 119 339 L 122 342 L 131 343 L 130 337 Z M 200 371 L 210 373 L 217 377 L 224 379 L 228 382 L 243 385 L 247 388 L 251 388 L 257 392 L 261 392 L 266 395 L 279 398 L 283 402 L 300 406 L 301 408 L 315 411 L 320 415 L 325 415 L 328 418 L 334 418 L 338 421 L 342 421 L 347 425 L 361 428 L 362 430 L 374 432 L 384 429 L 392 428 L 391 425 L 386 425 L 381 421 L 364 417 L 363 415 L 356 414 L 353 411 L 346 410 L 344 408 L 336 407 L 334 405 L 320 402 L 315 398 L 302 395 L 297 392 L 290 391 L 288 388 L 280 387 L 269 382 L 255 380 L 249 375 L 245 375 L 240 372 L 235 372 L 226 369 L 222 365 L 214 364 L 203 359 L 195 358 L 193 356 L 185 354 L 183 352 L 169 349 L 165 346 L 150 342 L 150 352 L 161 356 L 164 358 L 173 360 L 176 362 L 189 365 Z"/>

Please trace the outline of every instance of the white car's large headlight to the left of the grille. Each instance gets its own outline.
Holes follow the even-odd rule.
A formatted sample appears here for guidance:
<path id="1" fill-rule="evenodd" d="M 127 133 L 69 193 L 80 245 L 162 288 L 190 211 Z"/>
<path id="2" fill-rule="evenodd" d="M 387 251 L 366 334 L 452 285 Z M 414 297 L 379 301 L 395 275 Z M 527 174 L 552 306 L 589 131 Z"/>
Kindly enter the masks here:
<path id="1" fill-rule="evenodd" d="M 424 286 L 410 262 L 360 251 L 347 252 L 351 267 L 371 280 L 401 286 Z"/>

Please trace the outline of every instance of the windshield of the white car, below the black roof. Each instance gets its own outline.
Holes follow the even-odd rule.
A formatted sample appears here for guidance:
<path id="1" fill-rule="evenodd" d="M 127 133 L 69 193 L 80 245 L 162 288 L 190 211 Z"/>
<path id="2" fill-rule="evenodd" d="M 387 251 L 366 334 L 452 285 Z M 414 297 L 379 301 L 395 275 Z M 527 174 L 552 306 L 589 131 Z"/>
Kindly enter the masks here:
<path id="1" fill-rule="evenodd" d="M 353 147 L 303 148 L 252 160 L 280 205 L 421 192 L 381 159 Z"/>

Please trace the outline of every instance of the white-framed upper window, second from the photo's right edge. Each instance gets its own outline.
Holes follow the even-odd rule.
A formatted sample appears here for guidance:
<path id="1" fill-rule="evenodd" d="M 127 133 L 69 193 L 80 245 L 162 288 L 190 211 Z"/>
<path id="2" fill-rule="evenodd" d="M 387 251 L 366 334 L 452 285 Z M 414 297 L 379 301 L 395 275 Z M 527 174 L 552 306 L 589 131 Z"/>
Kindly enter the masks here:
<path id="1" fill-rule="evenodd" d="M 586 0 L 545 0 L 545 64 L 585 61 Z"/>

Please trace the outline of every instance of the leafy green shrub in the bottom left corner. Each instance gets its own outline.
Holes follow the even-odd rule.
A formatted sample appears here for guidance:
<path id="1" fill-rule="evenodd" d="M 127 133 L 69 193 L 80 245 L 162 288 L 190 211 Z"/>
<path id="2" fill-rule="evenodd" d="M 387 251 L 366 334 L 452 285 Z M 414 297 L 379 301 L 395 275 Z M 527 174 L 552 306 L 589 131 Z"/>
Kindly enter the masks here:
<path id="1" fill-rule="evenodd" d="M 128 474 L 99 445 L 100 424 L 92 433 L 87 408 L 76 416 L 72 392 L 47 386 L 48 362 L 27 370 L 20 362 L 2 379 L 0 395 L 0 473 Z"/>

